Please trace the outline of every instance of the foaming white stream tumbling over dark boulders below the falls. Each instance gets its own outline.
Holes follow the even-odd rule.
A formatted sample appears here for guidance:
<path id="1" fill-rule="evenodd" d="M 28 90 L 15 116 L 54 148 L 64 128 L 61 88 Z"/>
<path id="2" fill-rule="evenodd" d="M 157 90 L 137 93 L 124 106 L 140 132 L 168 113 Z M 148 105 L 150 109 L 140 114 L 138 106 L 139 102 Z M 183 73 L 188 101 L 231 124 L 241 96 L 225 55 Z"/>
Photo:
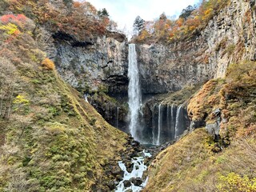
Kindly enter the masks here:
<path id="1" fill-rule="evenodd" d="M 134 186 L 134 184 L 131 183 L 130 187 L 125 187 L 123 184 L 124 181 L 129 181 L 130 178 L 142 178 L 143 172 L 146 171 L 147 169 L 146 165 L 144 164 L 144 157 L 151 157 L 151 154 L 146 153 L 145 151 L 143 151 L 143 154 L 143 157 L 132 158 L 131 162 L 134 163 L 134 166 L 133 170 L 130 173 L 126 170 L 126 166 L 123 162 L 118 162 L 118 165 L 120 166 L 121 170 L 123 170 L 125 173 L 122 181 L 119 182 L 115 192 L 123 192 L 129 189 L 133 190 L 133 192 L 138 192 L 146 186 L 148 178 L 146 178 L 146 180 L 142 182 L 141 186 Z"/>

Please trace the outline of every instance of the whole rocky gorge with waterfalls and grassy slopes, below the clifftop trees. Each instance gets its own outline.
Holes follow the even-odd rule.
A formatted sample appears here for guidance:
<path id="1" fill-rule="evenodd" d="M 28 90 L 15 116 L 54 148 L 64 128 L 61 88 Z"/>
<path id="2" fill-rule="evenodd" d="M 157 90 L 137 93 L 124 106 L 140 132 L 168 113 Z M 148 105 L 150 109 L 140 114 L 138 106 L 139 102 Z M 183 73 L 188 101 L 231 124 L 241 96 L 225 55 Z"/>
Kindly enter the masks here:
<path id="1" fill-rule="evenodd" d="M 69 2 L 49 4 L 69 15 Z M 0 23 L 0 190 L 235 191 L 234 178 L 255 191 L 255 7 L 230 0 L 166 43 L 115 30 L 81 38 L 10 6 L 15 16 Z M 10 38 L 12 22 L 20 33 Z"/>

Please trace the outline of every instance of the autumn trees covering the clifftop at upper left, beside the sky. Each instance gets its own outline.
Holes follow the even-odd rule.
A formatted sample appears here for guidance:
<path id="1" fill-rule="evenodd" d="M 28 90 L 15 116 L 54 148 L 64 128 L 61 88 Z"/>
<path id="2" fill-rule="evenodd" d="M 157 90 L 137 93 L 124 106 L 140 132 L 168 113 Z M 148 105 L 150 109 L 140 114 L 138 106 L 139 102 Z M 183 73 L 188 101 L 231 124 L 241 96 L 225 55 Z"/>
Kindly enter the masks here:
<path id="1" fill-rule="evenodd" d="M 61 31 L 79 41 L 90 40 L 106 34 L 107 28 L 115 27 L 106 10 L 97 11 L 90 2 L 72 0 L 3 0 L 0 14 L 12 12 L 25 14 L 36 25 L 45 26 L 51 32 Z M 72 25 L 70 25 L 72 23 Z M 85 39 L 86 38 L 86 39 Z"/>

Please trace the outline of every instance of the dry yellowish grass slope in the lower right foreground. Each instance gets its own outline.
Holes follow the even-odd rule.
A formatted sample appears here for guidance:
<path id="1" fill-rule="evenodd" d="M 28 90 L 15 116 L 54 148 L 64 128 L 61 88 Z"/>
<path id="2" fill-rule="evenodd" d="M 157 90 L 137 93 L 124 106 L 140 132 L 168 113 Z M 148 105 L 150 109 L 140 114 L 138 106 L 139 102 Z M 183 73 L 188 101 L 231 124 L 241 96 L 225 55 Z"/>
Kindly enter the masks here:
<path id="1" fill-rule="evenodd" d="M 150 181 L 144 191 L 222 191 L 219 187 L 226 181 L 221 178 L 230 173 L 254 181 L 254 138 L 237 140 L 214 154 L 209 150 L 208 137 L 204 130 L 195 130 L 158 154 L 150 166 Z"/>

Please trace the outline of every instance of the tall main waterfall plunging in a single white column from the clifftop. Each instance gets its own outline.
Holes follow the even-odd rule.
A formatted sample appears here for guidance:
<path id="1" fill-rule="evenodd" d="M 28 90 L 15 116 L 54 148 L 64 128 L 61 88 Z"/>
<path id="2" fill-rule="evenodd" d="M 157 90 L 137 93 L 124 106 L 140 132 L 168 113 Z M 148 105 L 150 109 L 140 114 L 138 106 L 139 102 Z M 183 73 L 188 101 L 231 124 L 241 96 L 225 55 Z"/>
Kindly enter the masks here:
<path id="1" fill-rule="evenodd" d="M 138 115 L 142 106 L 142 94 L 139 85 L 139 72 L 135 44 L 129 45 L 129 66 L 128 66 L 128 105 L 130 109 L 130 134 L 138 140 Z"/>

